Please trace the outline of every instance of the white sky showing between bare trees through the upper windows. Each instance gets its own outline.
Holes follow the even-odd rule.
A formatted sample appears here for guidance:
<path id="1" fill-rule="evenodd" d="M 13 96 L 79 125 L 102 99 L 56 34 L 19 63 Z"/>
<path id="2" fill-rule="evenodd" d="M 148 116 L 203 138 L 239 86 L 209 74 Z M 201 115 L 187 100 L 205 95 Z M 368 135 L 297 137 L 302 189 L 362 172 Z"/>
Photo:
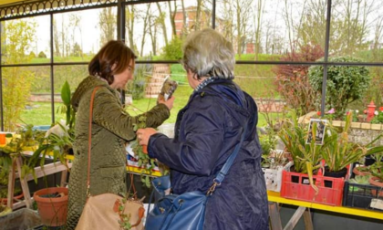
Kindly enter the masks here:
<path id="1" fill-rule="evenodd" d="M 318 0 L 322 1 L 322 0 Z M 254 1 L 256 2 L 256 1 Z M 184 1 L 185 6 L 190 6 L 190 5 L 196 5 L 196 1 Z M 181 1 L 178 2 L 178 4 L 181 4 Z M 285 30 L 285 20 L 283 17 L 283 7 L 284 7 L 284 1 L 277 1 L 277 0 L 269 0 L 266 2 L 266 6 L 264 7 L 264 22 L 265 21 L 273 21 L 273 28 L 276 33 L 279 34 L 280 37 L 285 39 L 285 42 L 287 41 L 287 33 Z M 167 3 L 161 3 L 162 11 L 168 14 L 169 10 L 167 8 Z M 271 7 L 273 6 L 274 7 Z M 278 5 L 277 7 L 275 5 Z M 294 11 L 292 11 L 292 14 L 294 13 L 301 13 L 301 10 L 299 8 L 301 7 L 302 4 L 297 4 L 295 5 Z M 140 6 L 140 5 L 139 5 Z M 146 7 L 146 4 L 141 4 L 142 7 Z M 157 11 L 156 5 L 152 5 L 152 8 Z M 217 4 L 217 16 L 219 14 L 222 14 L 222 4 Z M 181 9 L 181 5 L 179 6 L 179 9 Z M 66 33 L 70 34 L 72 31 L 68 31 L 68 28 L 70 26 L 68 25 L 69 21 L 69 16 L 76 14 L 78 16 L 81 16 L 81 22 L 80 22 L 80 27 L 81 27 L 81 35 L 80 31 L 77 29 L 75 31 L 75 38 L 78 42 L 78 44 L 81 44 L 82 42 L 82 47 L 83 47 L 83 52 L 89 53 L 93 52 L 96 53 L 99 48 L 99 27 L 98 27 L 98 12 L 100 9 L 90 9 L 90 10 L 82 10 L 78 12 L 69 12 L 69 13 L 64 13 L 64 14 L 55 14 L 54 18 L 57 20 L 57 29 L 59 31 L 62 30 L 62 20 L 64 19 L 64 22 L 66 25 L 64 26 Z M 295 22 L 298 21 L 299 19 L 299 14 L 296 14 L 295 16 Z M 39 53 L 40 51 L 44 51 L 49 57 L 50 54 L 50 48 L 49 48 L 49 26 L 50 26 L 50 16 L 36 16 L 34 17 L 37 23 L 37 33 L 36 33 L 36 40 L 38 41 L 37 44 L 34 45 L 33 51 L 36 53 Z M 171 37 L 171 23 L 169 16 L 166 17 L 167 22 L 167 34 L 168 37 Z M 372 17 L 371 17 L 372 19 Z M 375 18 L 374 18 L 375 19 Z M 140 47 L 140 37 L 142 37 L 142 23 L 140 20 L 136 20 L 135 23 L 135 41 L 137 41 L 137 46 Z M 254 25 L 252 25 L 252 30 L 254 30 Z M 263 33 L 265 33 L 265 30 L 268 29 L 265 27 L 265 24 L 262 27 Z M 325 32 L 325 31 L 324 31 Z M 252 31 L 247 30 L 246 33 L 252 35 Z M 370 37 L 373 36 L 373 31 L 370 31 Z M 81 38 L 82 37 L 82 38 Z M 67 42 L 71 42 L 71 39 L 67 38 Z M 265 41 L 263 41 L 265 42 Z M 73 45 L 73 44 L 72 44 Z M 164 41 L 163 37 L 161 34 L 158 35 L 158 46 L 157 47 L 163 47 L 164 46 Z M 148 54 L 151 50 L 150 46 L 150 37 L 149 35 L 146 37 L 146 43 L 144 47 L 144 55 L 145 53 Z"/>

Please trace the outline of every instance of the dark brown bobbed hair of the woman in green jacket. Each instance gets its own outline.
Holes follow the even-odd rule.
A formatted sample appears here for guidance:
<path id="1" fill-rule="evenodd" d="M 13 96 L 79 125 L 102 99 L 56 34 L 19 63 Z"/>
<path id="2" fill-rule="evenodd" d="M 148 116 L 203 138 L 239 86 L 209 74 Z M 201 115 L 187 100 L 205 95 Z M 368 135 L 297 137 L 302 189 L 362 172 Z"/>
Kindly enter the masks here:
<path id="1" fill-rule="evenodd" d="M 114 75 L 128 68 L 130 61 L 137 56 L 123 41 L 110 40 L 88 65 L 89 75 L 105 78 L 109 85 L 114 81 Z M 116 68 L 112 70 L 113 65 Z"/>

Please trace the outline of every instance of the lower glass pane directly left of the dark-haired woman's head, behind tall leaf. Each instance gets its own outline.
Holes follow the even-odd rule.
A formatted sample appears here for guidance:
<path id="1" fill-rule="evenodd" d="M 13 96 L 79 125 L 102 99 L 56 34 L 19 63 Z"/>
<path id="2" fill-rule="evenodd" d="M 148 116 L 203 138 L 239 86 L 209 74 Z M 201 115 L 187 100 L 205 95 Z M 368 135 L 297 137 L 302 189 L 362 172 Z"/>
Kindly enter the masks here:
<path id="1" fill-rule="evenodd" d="M 61 99 L 61 89 L 67 81 L 70 91 L 73 93 L 78 88 L 78 84 L 88 77 L 87 65 L 59 66 L 55 67 L 55 120 L 66 120 L 65 112 L 62 109 L 64 105 Z"/>

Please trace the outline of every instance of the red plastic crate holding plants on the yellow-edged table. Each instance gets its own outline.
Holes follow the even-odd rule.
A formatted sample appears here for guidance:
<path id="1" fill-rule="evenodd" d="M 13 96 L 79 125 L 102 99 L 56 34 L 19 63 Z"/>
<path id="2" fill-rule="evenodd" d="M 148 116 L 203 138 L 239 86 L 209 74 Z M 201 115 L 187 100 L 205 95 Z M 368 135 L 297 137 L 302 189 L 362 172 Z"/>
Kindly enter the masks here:
<path id="1" fill-rule="evenodd" d="M 333 178 L 321 175 L 313 176 L 314 183 L 319 189 L 316 191 L 308 181 L 308 175 L 303 173 L 282 173 L 281 196 L 305 202 L 314 202 L 328 205 L 342 205 L 343 178 Z"/>

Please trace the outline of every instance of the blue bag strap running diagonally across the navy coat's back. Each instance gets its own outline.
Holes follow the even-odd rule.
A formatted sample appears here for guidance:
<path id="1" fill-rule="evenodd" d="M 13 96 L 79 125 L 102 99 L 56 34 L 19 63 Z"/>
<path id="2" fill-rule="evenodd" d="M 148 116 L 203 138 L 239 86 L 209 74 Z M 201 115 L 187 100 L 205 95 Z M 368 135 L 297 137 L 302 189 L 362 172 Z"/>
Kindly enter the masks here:
<path id="1" fill-rule="evenodd" d="M 221 171 L 219 173 L 217 173 L 215 178 L 212 180 L 213 183 L 207 192 L 208 195 L 212 195 L 212 193 L 215 190 L 215 187 L 221 185 L 221 183 L 223 182 L 224 177 L 229 172 L 230 168 L 233 165 L 235 158 L 238 155 L 239 150 L 241 149 L 241 146 L 243 144 L 243 140 L 244 140 L 244 136 L 245 136 L 246 132 L 247 132 L 247 120 L 246 120 L 246 122 L 244 122 L 244 125 L 243 125 L 243 132 L 241 135 L 241 141 L 235 146 L 233 153 L 229 156 L 229 158 L 223 164 L 223 168 L 221 169 Z"/>

